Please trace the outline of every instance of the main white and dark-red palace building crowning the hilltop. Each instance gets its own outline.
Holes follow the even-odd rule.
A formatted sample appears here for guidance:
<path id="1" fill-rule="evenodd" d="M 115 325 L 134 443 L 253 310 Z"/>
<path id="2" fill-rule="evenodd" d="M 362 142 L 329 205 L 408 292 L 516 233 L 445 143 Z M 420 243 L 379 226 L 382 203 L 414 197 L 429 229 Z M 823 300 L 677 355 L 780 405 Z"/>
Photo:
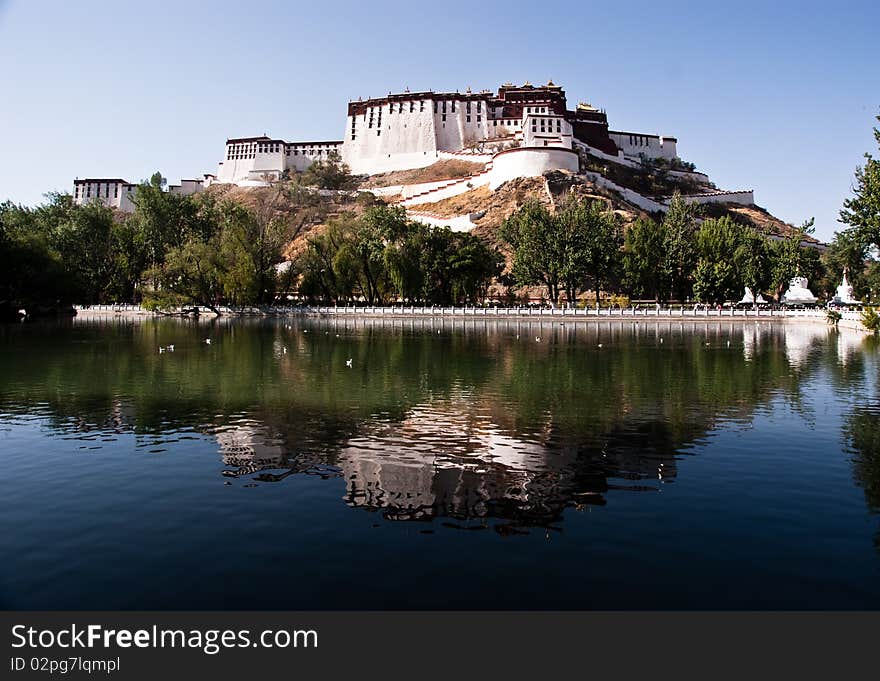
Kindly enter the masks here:
<path id="1" fill-rule="evenodd" d="M 497 92 L 409 92 L 349 102 L 343 139 L 285 142 L 266 135 L 226 140 L 218 182 L 259 185 L 301 171 L 336 152 L 356 174 L 408 170 L 443 158 L 491 158 L 511 149 L 574 150 L 576 144 L 621 159 L 672 159 L 676 139 L 609 130 L 604 111 L 589 104 L 569 109 L 565 91 L 546 85 L 506 83 Z M 524 160 L 526 156 L 531 159 Z M 571 170 L 565 154 L 555 160 L 532 153 L 517 165 Z M 577 170 L 577 167 L 574 168 Z"/>

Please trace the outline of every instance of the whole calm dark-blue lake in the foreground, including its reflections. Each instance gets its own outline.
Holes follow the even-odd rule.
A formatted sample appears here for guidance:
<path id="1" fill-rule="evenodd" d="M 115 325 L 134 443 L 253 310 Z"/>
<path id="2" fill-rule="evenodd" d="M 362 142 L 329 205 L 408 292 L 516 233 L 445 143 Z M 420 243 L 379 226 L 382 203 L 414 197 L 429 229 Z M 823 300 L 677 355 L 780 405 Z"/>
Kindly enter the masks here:
<path id="1" fill-rule="evenodd" d="M 819 325 L 0 327 L 0 607 L 880 608 L 878 375 Z"/>

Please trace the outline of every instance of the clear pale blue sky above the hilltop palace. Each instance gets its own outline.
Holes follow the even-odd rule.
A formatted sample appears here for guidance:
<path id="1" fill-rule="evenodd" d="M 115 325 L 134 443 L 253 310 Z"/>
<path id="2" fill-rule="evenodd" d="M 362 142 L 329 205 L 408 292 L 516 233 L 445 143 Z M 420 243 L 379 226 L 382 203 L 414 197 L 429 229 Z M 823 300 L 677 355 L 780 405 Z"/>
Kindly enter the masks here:
<path id="1" fill-rule="evenodd" d="M 215 172 L 226 137 L 341 139 L 345 105 L 552 78 L 830 238 L 880 112 L 880 3 L 0 0 L 0 200 Z"/>

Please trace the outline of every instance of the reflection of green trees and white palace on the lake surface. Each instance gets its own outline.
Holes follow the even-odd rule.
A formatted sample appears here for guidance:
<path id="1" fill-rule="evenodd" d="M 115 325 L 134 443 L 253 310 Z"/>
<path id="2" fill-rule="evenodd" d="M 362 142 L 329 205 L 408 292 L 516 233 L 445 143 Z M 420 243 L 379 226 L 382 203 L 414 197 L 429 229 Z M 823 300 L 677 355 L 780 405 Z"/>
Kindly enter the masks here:
<path id="1" fill-rule="evenodd" d="M 63 437 L 131 433 L 153 453 L 212 437 L 233 484 L 339 477 L 345 503 L 387 519 L 496 518 L 499 531 L 552 526 L 612 489 L 657 491 L 719 423 L 797 408 L 819 369 L 847 390 L 864 375 L 859 336 L 807 324 L 114 320 L 0 334 L 0 409 Z M 859 479 L 874 419 L 849 422 Z"/>

